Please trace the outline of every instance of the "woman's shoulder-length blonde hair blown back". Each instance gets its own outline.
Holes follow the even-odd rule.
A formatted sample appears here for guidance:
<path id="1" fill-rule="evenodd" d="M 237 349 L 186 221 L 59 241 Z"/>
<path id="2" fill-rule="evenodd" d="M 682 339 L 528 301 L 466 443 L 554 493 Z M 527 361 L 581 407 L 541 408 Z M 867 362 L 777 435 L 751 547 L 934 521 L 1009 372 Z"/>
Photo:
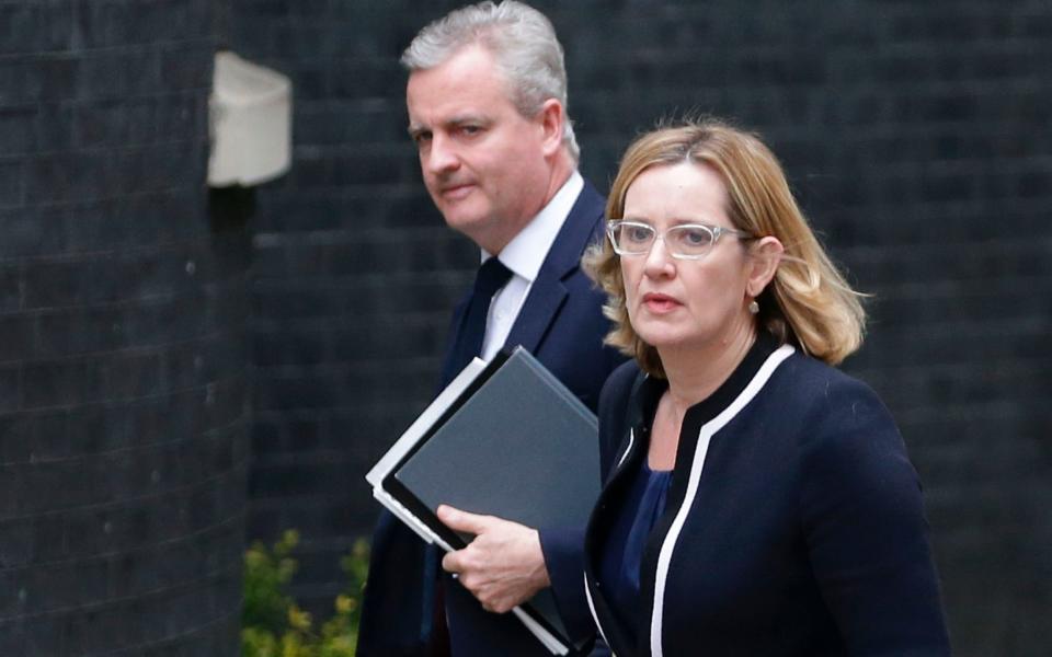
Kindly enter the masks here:
<path id="1" fill-rule="evenodd" d="M 847 284 L 800 211 L 778 159 L 757 136 L 718 119 L 688 119 L 642 135 L 628 148 L 610 188 L 606 216 L 619 219 L 629 186 L 651 166 L 694 162 L 716 171 L 727 187 L 727 214 L 753 238 L 785 246 L 774 279 L 756 299 L 757 323 L 782 343 L 836 365 L 858 349 L 866 326 L 862 296 Z M 609 242 L 585 254 L 588 276 L 608 295 L 614 328 L 606 343 L 632 356 L 643 371 L 664 377 L 658 350 L 632 330 L 625 307 L 620 261 Z"/>

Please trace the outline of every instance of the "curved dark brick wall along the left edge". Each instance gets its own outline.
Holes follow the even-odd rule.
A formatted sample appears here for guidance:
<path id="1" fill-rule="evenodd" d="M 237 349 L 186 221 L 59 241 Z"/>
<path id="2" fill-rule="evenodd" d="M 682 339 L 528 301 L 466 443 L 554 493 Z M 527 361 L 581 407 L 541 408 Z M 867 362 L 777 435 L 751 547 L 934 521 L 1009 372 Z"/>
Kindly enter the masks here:
<path id="1" fill-rule="evenodd" d="M 235 655 L 248 233 L 209 0 L 0 0 L 0 655 Z"/>

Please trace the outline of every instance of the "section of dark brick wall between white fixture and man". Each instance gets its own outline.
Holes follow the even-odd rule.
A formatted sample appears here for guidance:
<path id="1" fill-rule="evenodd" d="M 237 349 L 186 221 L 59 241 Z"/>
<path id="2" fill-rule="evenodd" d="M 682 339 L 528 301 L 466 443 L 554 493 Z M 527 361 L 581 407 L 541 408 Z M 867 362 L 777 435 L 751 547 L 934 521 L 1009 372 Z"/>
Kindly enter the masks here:
<path id="1" fill-rule="evenodd" d="M 471 277 L 405 139 L 397 55 L 418 4 L 244 1 L 229 23 L 230 45 L 295 93 L 293 170 L 259 189 L 252 226 L 249 538 L 302 531 L 296 595 L 320 612 L 376 517 L 367 464 L 430 401 Z"/>

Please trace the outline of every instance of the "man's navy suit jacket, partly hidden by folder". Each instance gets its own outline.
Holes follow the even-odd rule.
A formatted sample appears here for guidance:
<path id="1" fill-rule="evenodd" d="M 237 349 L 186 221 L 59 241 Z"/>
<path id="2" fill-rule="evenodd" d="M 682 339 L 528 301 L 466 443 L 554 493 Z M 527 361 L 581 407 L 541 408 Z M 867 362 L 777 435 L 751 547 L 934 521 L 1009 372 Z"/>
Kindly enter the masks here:
<path id="1" fill-rule="evenodd" d="M 606 377 L 624 361 L 617 351 L 603 346 L 610 330 L 602 312 L 606 298 L 580 267 L 585 249 L 603 239 L 604 206 L 602 195 L 585 182 L 505 343 L 526 347 L 592 410 L 598 404 Z M 468 296 L 454 312 L 443 381 L 456 374 L 446 370 Z M 560 614 L 569 627 L 579 630 L 578 637 L 586 641 L 591 620 L 581 579 L 584 528 L 538 529 Z M 487 612 L 467 589 L 441 573 L 439 557 L 437 549 L 426 546 L 393 516 L 381 512 L 362 610 L 359 657 L 432 654 L 428 646 L 436 632 L 436 614 L 431 583 L 438 576 L 444 577 L 454 657 L 550 655 L 513 614 Z"/>

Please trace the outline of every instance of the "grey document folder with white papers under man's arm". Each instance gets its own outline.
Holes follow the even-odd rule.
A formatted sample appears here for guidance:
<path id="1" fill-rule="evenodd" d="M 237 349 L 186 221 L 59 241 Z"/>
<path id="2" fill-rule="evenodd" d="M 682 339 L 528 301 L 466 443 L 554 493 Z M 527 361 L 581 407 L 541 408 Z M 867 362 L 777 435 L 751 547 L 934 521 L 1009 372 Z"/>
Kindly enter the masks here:
<path id="1" fill-rule="evenodd" d="M 447 550 L 471 537 L 438 521 L 441 504 L 527 527 L 583 528 L 599 493 L 595 415 L 518 347 L 468 366 L 366 479 L 396 516 Z M 517 615 L 552 653 L 569 650 L 550 590 Z"/>

